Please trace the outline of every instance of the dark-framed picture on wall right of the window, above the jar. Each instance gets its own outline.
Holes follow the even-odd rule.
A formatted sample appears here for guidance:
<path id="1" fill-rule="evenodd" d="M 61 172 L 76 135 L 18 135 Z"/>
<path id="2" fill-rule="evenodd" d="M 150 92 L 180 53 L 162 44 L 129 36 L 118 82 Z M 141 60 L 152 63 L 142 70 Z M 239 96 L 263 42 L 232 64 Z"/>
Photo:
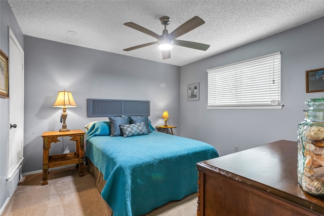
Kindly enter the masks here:
<path id="1" fill-rule="evenodd" d="M 324 91 L 324 68 L 306 71 L 306 92 Z"/>

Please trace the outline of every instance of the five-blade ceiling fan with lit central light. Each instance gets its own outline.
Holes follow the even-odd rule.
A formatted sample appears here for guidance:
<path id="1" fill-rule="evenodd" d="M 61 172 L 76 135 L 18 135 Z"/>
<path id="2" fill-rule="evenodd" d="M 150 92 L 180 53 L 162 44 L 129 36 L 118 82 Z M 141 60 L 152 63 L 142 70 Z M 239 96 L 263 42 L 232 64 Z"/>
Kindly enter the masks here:
<path id="1" fill-rule="evenodd" d="M 172 49 L 173 45 L 197 49 L 197 50 L 204 50 L 204 51 L 206 51 L 210 47 L 210 45 L 207 45 L 207 44 L 175 40 L 176 38 L 180 37 L 181 35 L 195 29 L 196 27 L 198 27 L 200 25 L 203 25 L 205 23 L 205 21 L 203 19 L 195 16 L 195 17 L 189 19 L 187 22 L 180 25 L 178 28 L 176 28 L 170 34 L 167 30 L 167 25 L 169 25 L 170 21 L 171 21 L 170 17 L 163 16 L 160 18 L 160 21 L 161 21 L 161 24 L 164 25 L 164 30 L 162 32 L 162 35 L 158 35 L 157 33 L 154 33 L 153 31 L 148 30 L 147 28 L 144 28 L 144 27 L 142 27 L 138 24 L 135 24 L 133 22 L 124 23 L 124 25 L 126 25 L 126 26 L 129 26 L 129 27 L 134 28 L 138 31 L 146 33 L 146 34 L 152 36 L 153 38 L 157 39 L 156 42 L 151 42 L 151 43 L 147 43 L 147 44 L 138 45 L 135 47 L 130 47 L 130 48 L 124 49 L 124 51 L 136 50 L 139 48 L 157 44 L 158 48 L 162 50 L 162 58 L 168 59 L 168 58 L 171 58 L 170 49 Z"/>

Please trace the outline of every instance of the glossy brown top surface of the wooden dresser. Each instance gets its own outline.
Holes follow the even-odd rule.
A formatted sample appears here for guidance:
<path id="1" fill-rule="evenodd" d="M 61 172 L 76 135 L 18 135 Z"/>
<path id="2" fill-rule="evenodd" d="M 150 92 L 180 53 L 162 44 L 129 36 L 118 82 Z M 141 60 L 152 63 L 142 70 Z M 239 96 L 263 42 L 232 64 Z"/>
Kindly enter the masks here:
<path id="1" fill-rule="evenodd" d="M 199 162 L 198 169 L 220 173 L 306 208 L 322 208 L 324 198 L 305 193 L 297 177 L 297 142 L 279 140 L 263 146 Z"/>

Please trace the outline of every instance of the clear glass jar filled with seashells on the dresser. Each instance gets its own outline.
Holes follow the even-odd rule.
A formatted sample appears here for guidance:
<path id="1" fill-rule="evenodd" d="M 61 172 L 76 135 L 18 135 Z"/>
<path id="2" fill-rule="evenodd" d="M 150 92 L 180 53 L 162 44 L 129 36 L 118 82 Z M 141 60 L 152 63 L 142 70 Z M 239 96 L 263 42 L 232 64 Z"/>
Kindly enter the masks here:
<path id="1" fill-rule="evenodd" d="M 305 104 L 305 121 L 298 124 L 298 183 L 306 193 L 324 196 L 324 97 Z"/>

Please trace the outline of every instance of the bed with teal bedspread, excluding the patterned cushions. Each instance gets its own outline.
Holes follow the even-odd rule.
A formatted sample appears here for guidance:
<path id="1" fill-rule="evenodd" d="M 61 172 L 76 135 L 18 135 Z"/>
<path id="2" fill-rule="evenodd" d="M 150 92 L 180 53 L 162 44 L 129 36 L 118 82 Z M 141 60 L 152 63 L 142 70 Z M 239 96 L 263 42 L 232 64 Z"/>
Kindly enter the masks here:
<path id="1" fill-rule="evenodd" d="M 150 122 L 149 133 L 112 136 L 110 122 L 88 125 L 86 157 L 114 216 L 142 215 L 197 192 L 196 163 L 218 157 L 211 145 L 157 132 Z"/>

